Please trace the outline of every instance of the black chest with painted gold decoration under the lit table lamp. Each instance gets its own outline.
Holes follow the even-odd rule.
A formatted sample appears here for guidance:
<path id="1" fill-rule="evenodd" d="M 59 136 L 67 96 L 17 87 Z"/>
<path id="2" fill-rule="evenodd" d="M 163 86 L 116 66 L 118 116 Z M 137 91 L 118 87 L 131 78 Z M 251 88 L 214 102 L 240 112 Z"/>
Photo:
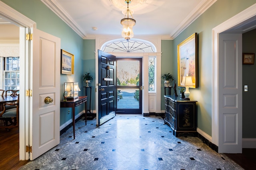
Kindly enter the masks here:
<path id="1" fill-rule="evenodd" d="M 178 137 L 179 134 L 189 133 L 194 136 L 196 131 L 196 102 L 184 98 L 165 95 L 165 117 L 164 123 L 172 128 L 172 134 Z"/>

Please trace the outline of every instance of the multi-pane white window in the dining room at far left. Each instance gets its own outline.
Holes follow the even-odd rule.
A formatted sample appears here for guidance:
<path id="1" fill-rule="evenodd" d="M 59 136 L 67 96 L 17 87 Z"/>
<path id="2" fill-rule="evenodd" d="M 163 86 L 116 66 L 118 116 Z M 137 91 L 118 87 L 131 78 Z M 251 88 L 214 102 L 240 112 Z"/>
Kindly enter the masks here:
<path id="1" fill-rule="evenodd" d="M 20 89 L 20 57 L 5 57 L 4 90 Z"/>

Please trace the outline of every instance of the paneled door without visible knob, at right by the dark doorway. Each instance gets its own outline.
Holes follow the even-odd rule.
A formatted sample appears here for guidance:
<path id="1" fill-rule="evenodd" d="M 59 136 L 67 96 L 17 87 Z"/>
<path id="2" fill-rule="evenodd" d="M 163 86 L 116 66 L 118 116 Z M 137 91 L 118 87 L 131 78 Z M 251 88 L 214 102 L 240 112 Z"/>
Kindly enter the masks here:
<path id="1" fill-rule="evenodd" d="M 242 153 L 242 34 L 219 34 L 218 152 Z"/>

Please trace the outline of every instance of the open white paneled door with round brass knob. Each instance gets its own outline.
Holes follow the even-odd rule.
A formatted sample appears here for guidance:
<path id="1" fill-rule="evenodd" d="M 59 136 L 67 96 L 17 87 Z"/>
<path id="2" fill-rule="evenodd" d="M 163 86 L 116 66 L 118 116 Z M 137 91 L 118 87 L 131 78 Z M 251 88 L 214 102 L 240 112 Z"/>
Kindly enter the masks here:
<path id="1" fill-rule="evenodd" d="M 34 160 L 60 143 L 60 38 L 38 29 L 31 33 L 29 138 Z"/>

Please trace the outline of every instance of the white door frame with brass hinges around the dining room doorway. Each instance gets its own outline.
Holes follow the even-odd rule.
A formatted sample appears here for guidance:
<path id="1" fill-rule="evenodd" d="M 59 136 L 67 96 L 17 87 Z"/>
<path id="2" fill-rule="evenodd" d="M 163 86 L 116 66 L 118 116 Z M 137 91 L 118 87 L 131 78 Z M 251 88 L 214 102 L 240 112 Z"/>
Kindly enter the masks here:
<path id="1" fill-rule="evenodd" d="M 0 1 L 0 16 L 20 27 L 20 89 L 23 90 L 20 90 L 19 152 L 20 160 L 28 160 L 29 155 L 26 152 L 26 145 L 29 144 L 29 102 L 28 98 L 25 98 L 25 89 L 29 89 L 29 73 L 25 66 L 29 64 L 29 46 L 28 42 L 25 41 L 25 34 L 29 28 L 36 28 L 36 22 L 4 4 L 2 1 Z"/>

